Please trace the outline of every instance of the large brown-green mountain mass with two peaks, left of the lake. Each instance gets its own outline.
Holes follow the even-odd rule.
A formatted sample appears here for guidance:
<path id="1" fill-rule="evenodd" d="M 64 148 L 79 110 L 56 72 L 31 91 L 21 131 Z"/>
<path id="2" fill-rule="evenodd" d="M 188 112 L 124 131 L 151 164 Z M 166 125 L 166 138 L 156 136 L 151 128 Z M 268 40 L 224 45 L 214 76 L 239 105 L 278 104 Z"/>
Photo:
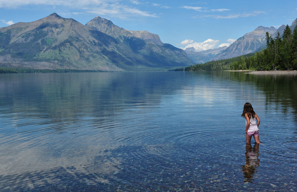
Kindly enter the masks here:
<path id="1" fill-rule="evenodd" d="M 53 13 L 0 28 L 0 67 L 97 71 L 167 70 L 194 64 L 157 34 L 95 17 L 86 25 Z"/>

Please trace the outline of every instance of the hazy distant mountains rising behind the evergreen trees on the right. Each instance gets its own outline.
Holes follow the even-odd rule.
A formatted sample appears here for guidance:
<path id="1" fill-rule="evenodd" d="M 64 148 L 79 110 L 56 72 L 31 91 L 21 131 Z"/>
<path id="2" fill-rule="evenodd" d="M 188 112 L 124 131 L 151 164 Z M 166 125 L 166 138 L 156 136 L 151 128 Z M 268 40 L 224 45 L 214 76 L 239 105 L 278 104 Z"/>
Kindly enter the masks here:
<path id="1" fill-rule="evenodd" d="M 290 26 L 291 31 L 295 28 L 297 19 L 293 21 Z M 207 61 L 215 61 L 220 59 L 233 58 L 248 53 L 254 53 L 266 48 L 266 32 L 271 34 L 274 38 L 279 32 L 281 35 L 285 29 L 285 25 L 280 26 L 278 29 L 271 27 L 259 26 L 254 31 L 245 34 L 238 38 L 229 47 L 219 47 L 206 51 L 196 52 L 194 47 L 185 49 L 188 56 L 196 63 L 205 63 Z M 194 49 L 194 50 L 193 50 Z"/>

